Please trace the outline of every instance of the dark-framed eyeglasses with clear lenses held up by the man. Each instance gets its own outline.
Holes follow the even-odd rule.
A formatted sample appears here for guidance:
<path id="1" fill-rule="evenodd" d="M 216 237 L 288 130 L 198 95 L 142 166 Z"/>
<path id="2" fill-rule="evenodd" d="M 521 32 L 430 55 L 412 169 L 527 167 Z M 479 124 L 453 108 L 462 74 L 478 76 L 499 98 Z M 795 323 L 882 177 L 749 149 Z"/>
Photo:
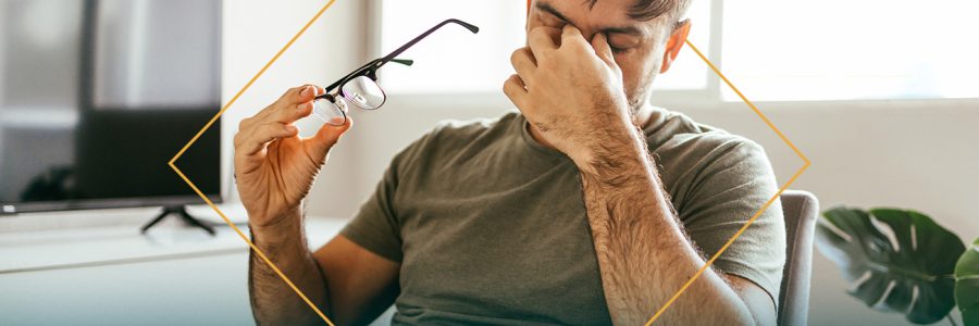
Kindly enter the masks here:
<path id="1" fill-rule="evenodd" d="M 381 86 L 377 85 L 377 70 L 388 62 L 410 66 L 414 61 L 395 59 L 395 57 L 401 54 L 401 52 L 405 52 L 418 41 L 449 23 L 459 24 L 473 34 L 480 32 L 480 27 L 459 20 L 446 20 L 445 22 L 438 23 L 435 27 L 422 33 L 397 50 L 394 50 L 383 58 L 368 62 L 352 73 L 349 73 L 339 80 L 331 84 L 326 87 L 326 93 L 318 96 L 313 101 L 313 114 L 325 121 L 329 125 L 342 126 L 347 122 L 348 101 L 363 110 L 376 110 L 381 108 L 381 105 L 384 105 L 387 96 L 384 93 L 384 90 L 381 89 Z"/>

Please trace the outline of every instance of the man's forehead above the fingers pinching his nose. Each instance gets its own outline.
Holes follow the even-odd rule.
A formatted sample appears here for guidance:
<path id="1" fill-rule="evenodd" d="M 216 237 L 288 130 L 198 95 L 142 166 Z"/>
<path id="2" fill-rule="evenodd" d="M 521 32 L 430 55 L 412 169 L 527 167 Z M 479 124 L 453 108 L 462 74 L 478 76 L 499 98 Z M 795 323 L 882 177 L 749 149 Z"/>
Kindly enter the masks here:
<path id="1" fill-rule="evenodd" d="M 642 1 L 642 0 L 639 0 Z M 643 35 L 657 26 L 659 18 L 634 16 L 637 0 L 537 0 L 535 9 L 557 16 L 578 28 L 595 28 L 605 33 Z M 662 15 L 660 15 L 662 16 Z"/>

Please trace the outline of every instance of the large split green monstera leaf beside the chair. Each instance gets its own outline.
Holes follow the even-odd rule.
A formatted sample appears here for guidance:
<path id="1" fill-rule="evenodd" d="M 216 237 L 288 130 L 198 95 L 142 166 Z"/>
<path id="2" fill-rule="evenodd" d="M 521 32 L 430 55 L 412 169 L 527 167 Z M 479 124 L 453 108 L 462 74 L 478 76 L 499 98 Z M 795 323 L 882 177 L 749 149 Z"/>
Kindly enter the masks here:
<path id="1" fill-rule="evenodd" d="M 816 244 L 867 306 L 904 314 L 915 324 L 944 318 L 955 306 L 957 236 L 905 210 L 834 208 L 822 213 Z"/>

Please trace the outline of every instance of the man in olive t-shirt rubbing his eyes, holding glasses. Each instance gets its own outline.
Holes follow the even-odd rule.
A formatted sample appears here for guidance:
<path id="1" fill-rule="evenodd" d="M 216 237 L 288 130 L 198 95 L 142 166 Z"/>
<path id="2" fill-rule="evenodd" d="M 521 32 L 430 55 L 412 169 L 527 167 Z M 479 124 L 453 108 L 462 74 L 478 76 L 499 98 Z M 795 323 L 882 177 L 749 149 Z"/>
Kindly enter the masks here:
<path id="1" fill-rule="evenodd" d="M 648 104 L 687 2 L 535 0 L 504 85 L 519 113 L 413 142 L 315 252 L 301 202 L 351 123 L 298 138 L 324 90 L 290 89 L 235 137 L 255 243 L 339 325 L 393 303 L 395 324 L 645 323 L 777 191 L 759 146 Z M 658 322 L 773 325 L 784 246 L 776 204 Z M 260 324 L 319 322 L 255 258 L 250 279 Z"/>

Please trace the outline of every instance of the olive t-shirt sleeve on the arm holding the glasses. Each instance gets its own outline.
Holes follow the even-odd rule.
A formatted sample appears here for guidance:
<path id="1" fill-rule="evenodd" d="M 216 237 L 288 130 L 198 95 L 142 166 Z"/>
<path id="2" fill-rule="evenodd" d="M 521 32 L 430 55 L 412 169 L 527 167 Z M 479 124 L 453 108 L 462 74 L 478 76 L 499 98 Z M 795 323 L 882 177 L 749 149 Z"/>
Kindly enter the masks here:
<path id="1" fill-rule="evenodd" d="M 354 243 L 393 262 L 401 262 L 402 256 L 400 223 L 393 204 L 398 188 L 399 156 L 392 161 L 377 189 L 360 206 L 354 220 L 340 230 L 340 235 Z"/>

